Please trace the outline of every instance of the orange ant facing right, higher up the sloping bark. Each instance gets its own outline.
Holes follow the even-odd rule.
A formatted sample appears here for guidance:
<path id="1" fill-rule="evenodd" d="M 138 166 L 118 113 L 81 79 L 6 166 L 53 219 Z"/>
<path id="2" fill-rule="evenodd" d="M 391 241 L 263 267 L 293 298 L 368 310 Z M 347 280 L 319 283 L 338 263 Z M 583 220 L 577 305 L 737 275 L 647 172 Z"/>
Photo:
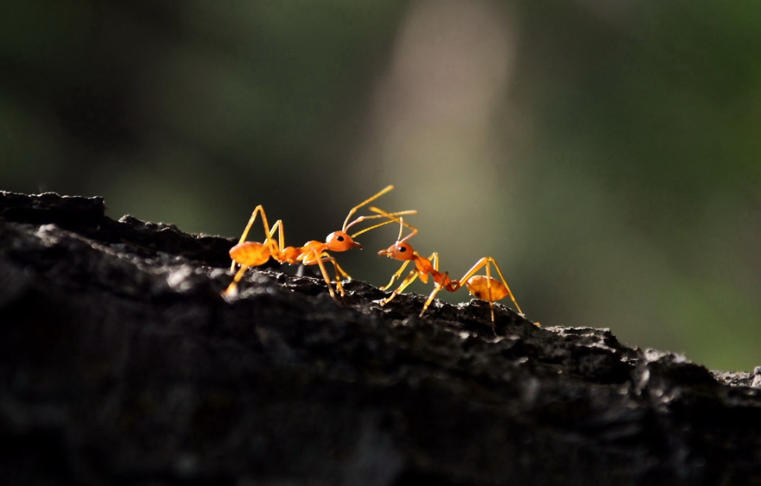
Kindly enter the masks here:
<path id="1" fill-rule="evenodd" d="M 223 292 L 224 295 L 231 295 L 234 294 L 235 289 L 237 287 L 238 282 L 241 278 L 243 278 L 244 273 L 246 270 L 250 267 L 255 267 L 258 265 L 263 265 L 266 263 L 270 257 L 272 259 L 275 259 L 276 261 L 280 263 L 288 263 L 290 265 L 298 265 L 299 263 L 303 265 L 319 265 L 320 266 L 320 272 L 322 272 L 323 279 L 325 280 L 325 283 L 328 286 L 328 291 L 330 292 L 330 297 L 333 298 L 333 300 L 336 300 L 336 294 L 333 292 L 333 287 L 330 285 L 330 277 L 328 276 L 328 273 L 325 268 L 325 262 L 331 262 L 333 263 L 333 268 L 336 272 L 336 288 L 341 293 L 341 296 L 343 297 L 344 291 L 343 287 L 341 285 L 340 277 L 346 278 L 347 280 L 351 280 L 352 278 L 344 272 L 343 268 L 340 267 L 338 262 L 336 262 L 336 259 L 333 258 L 333 256 L 330 256 L 330 252 L 345 252 L 346 250 L 352 249 L 352 248 L 360 248 L 361 245 L 354 241 L 354 238 L 360 235 L 361 233 L 365 233 L 366 231 L 373 230 L 377 227 L 383 226 L 384 224 L 393 223 L 393 221 L 396 221 L 396 217 L 399 217 L 402 214 L 416 214 L 417 211 L 399 211 L 396 213 L 386 213 L 384 214 L 375 214 L 372 216 L 360 216 L 359 218 L 356 218 L 354 221 L 349 223 L 349 219 L 352 218 L 352 214 L 354 214 L 359 208 L 361 208 L 364 205 L 367 205 L 369 202 L 374 201 L 375 199 L 379 198 L 381 195 L 384 195 L 385 193 L 389 192 L 391 189 L 393 189 L 393 186 L 387 186 L 377 194 L 373 195 L 371 198 L 361 202 L 360 204 L 356 205 L 354 208 L 352 208 L 351 211 L 349 211 L 349 214 L 346 216 L 346 219 L 343 223 L 343 227 L 340 231 L 334 231 L 333 233 L 330 233 L 324 242 L 312 240 L 307 241 L 307 243 L 304 243 L 304 246 L 285 246 L 285 237 L 283 236 L 283 222 L 282 220 L 278 220 L 275 222 L 272 227 L 269 227 L 269 223 L 267 222 L 267 216 L 264 213 L 264 208 L 262 205 L 256 206 L 256 208 L 253 210 L 253 213 L 251 214 L 251 218 L 248 220 L 248 224 L 246 225 L 246 229 L 244 230 L 243 234 L 240 236 L 240 240 L 238 241 L 237 245 L 233 246 L 230 249 L 230 256 L 233 260 L 232 265 L 230 267 L 230 271 L 235 271 L 235 265 L 240 265 L 240 269 L 235 274 L 233 281 L 228 286 L 228 288 Z M 265 240 L 263 243 L 259 243 L 256 241 L 246 241 L 246 238 L 248 237 L 248 233 L 251 230 L 251 227 L 253 226 L 253 222 L 256 220 L 257 214 L 262 214 L 262 223 L 264 225 L 264 233 L 266 234 Z M 346 230 L 349 230 L 350 227 L 354 226 L 355 224 L 360 223 L 361 221 L 365 221 L 368 219 L 374 219 L 374 218 L 389 218 L 389 221 L 384 221 L 383 223 L 375 224 L 374 226 L 365 228 L 364 230 L 358 231 L 357 233 L 352 234 L 349 236 L 349 233 L 346 233 Z M 278 233 L 277 240 L 275 240 L 275 233 Z"/>

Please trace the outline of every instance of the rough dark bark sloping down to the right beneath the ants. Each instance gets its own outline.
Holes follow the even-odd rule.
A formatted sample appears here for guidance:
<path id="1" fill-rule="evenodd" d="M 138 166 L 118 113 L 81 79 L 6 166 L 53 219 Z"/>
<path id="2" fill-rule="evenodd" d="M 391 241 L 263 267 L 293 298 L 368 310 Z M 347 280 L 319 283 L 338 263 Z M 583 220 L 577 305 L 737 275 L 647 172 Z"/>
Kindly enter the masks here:
<path id="1" fill-rule="evenodd" d="M 277 265 L 223 298 L 232 243 L 0 192 L 2 484 L 761 484 L 759 369 Z"/>

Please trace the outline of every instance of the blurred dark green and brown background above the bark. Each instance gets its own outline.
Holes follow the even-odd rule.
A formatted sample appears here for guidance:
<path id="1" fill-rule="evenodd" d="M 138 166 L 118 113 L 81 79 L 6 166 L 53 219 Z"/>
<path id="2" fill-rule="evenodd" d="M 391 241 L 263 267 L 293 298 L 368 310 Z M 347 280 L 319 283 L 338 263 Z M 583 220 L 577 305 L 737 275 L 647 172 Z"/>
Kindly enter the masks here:
<path id="1" fill-rule="evenodd" d="M 714 369 L 761 365 L 759 134 L 759 2 L 0 6 L 0 189 L 298 245 L 393 183 L 453 275 Z M 385 284 L 395 237 L 339 260 Z"/>

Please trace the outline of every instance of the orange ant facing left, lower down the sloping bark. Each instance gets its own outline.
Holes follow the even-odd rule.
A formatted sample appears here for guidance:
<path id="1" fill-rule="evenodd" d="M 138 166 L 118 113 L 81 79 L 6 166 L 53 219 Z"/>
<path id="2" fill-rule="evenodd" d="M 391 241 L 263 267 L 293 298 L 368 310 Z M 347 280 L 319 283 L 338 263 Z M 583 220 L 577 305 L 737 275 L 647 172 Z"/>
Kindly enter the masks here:
<path id="1" fill-rule="evenodd" d="M 389 283 L 384 287 L 380 287 L 380 290 L 384 291 L 389 288 L 397 278 L 400 278 L 404 272 L 404 269 L 407 267 L 407 265 L 409 265 L 409 262 L 415 262 L 415 270 L 407 275 L 400 286 L 397 287 L 389 297 L 380 300 L 380 305 L 384 306 L 389 303 L 409 284 L 412 284 L 416 278 L 420 278 L 423 283 L 428 283 L 428 277 L 431 277 L 433 278 L 435 286 L 431 292 L 431 295 L 428 296 L 428 300 L 425 301 L 425 305 L 423 305 L 423 309 L 420 312 L 420 317 L 423 316 L 425 310 L 428 309 L 428 306 L 431 305 L 431 302 L 436 297 L 436 294 L 441 291 L 441 289 L 445 289 L 448 292 L 456 292 L 463 286 L 467 287 L 468 291 L 470 291 L 470 294 L 473 294 L 473 297 L 489 302 L 489 307 L 492 311 L 492 329 L 495 329 L 494 303 L 497 300 L 501 300 L 509 296 L 515 304 L 518 313 L 521 316 L 524 316 L 521 307 L 518 305 L 515 297 L 513 296 L 513 293 L 510 291 L 510 287 L 508 287 L 508 282 L 505 281 L 505 277 L 502 275 L 497 262 L 495 262 L 495 259 L 493 259 L 491 256 L 486 256 L 482 259 L 479 259 L 479 261 L 476 262 L 476 265 L 473 265 L 470 270 L 465 272 L 465 275 L 463 275 L 462 278 L 452 280 L 449 278 L 449 272 L 442 273 L 438 271 L 438 253 L 431 253 L 431 256 L 425 258 L 424 256 L 420 256 L 419 253 L 417 253 L 415 249 L 412 248 L 412 245 L 407 243 L 407 240 L 418 233 L 418 229 L 416 227 L 407 224 L 404 221 L 404 218 L 397 218 L 395 214 L 390 214 L 374 207 L 371 207 L 370 210 L 385 216 L 386 218 L 399 221 L 400 223 L 399 237 L 396 238 L 396 243 L 394 243 L 392 246 L 389 246 L 388 249 L 381 249 L 380 252 L 378 252 L 378 255 L 387 256 L 389 258 L 403 261 L 404 263 L 402 264 L 401 268 L 391 276 Z M 403 238 L 402 233 L 405 227 L 408 227 L 412 231 Z M 494 265 L 494 268 L 497 270 L 501 281 L 498 281 L 496 278 L 492 278 L 492 265 Z M 478 272 L 483 267 L 486 267 L 486 275 L 476 275 L 476 272 Z"/>

